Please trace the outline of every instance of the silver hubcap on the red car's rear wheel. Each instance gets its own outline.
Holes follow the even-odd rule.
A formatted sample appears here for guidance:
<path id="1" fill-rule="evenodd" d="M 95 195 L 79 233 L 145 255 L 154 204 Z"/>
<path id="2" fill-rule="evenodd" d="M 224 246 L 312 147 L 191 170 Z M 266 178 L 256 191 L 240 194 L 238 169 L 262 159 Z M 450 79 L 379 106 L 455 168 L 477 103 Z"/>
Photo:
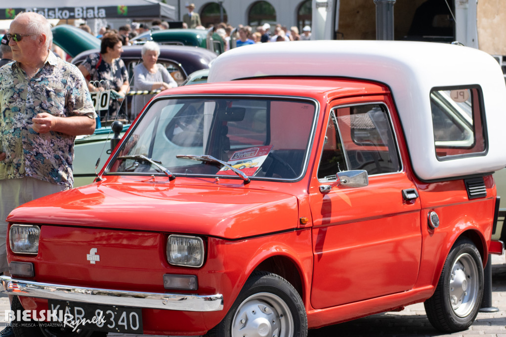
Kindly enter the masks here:
<path id="1" fill-rule="evenodd" d="M 449 282 L 450 304 L 459 317 L 466 317 L 475 307 L 478 298 L 478 267 L 469 254 L 462 254 L 451 269 Z"/>

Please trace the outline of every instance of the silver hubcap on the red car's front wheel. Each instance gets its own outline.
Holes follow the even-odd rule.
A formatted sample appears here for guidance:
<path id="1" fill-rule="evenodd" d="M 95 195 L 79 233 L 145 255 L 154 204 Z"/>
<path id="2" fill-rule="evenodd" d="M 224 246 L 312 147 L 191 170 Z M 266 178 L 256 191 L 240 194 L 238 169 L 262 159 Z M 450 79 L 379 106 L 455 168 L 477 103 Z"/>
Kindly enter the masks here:
<path id="1" fill-rule="evenodd" d="M 232 320 L 232 337 L 291 337 L 293 317 L 275 294 L 260 292 L 245 299 Z"/>

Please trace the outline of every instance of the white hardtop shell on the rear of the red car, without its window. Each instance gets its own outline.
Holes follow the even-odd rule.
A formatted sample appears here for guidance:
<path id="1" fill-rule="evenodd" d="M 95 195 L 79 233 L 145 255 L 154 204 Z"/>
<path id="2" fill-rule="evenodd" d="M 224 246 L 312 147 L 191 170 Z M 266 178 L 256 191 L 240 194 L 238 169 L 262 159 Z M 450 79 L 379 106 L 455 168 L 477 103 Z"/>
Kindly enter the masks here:
<path id="1" fill-rule="evenodd" d="M 477 49 L 440 43 L 318 40 L 264 43 L 220 55 L 208 82 L 256 76 L 336 76 L 385 83 L 392 91 L 415 174 L 431 181 L 484 174 L 506 166 L 506 85 L 495 59 Z M 473 157 L 438 160 L 430 92 L 479 85 L 488 148 Z"/>

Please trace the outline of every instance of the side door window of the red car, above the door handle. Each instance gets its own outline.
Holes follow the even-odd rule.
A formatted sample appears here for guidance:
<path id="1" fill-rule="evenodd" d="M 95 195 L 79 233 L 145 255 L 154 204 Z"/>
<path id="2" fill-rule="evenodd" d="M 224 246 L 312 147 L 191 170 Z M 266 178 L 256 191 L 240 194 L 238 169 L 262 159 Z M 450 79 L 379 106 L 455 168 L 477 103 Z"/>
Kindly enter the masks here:
<path id="1" fill-rule="evenodd" d="M 401 170 L 388 109 L 383 104 L 335 108 L 327 125 L 318 179 L 346 170 L 369 176 Z"/>

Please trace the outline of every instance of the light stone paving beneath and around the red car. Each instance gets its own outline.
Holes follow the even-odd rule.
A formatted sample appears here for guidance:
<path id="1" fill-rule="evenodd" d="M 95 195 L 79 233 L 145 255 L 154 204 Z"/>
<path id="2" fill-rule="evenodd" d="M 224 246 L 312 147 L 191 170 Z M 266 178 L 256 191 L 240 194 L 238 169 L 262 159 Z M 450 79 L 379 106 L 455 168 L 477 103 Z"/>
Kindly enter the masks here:
<path id="1" fill-rule="evenodd" d="M 492 256 L 492 305 L 495 313 L 480 313 L 466 331 L 450 334 L 460 337 L 506 337 L 506 263 L 505 257 Z M 0 327 L 5 325 L 1 313 L 9 310 L 7 297 L 0 297 Z M 135 334 L 109 333 L 114 337 L 139 337 Z M 354 321 L 309 331 L 309 337 L 328 336 L 446 336 L 435 330 L 425 315 L 424 305 L 414 304 L 401 312 L 376 314 Z M 159 336 L 161 337 L 161 336 Z"/>

